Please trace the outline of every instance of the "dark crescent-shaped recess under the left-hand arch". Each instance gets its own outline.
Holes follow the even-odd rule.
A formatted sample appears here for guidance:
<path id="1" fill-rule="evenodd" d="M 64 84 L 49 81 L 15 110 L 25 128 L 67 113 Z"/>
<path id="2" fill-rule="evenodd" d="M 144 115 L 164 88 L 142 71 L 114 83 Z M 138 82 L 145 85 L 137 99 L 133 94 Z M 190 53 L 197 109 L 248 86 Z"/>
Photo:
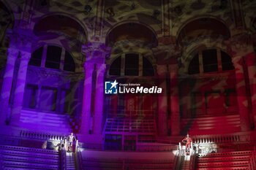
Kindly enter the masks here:
<path id="1" fill-rule="evenodd" d="M 88 39 L 86 27 L 83 26 L 80 20 L 60 12 L 50 13 L 39 18 L 34 24 L 33 31 L 37 36 L 42 36 L 46 33 L 48 36 L 52 35 L 54 37 L 61 33 L 73 39 L 81 37 L 78 39 L 80 42 L 86 42 Z"/>

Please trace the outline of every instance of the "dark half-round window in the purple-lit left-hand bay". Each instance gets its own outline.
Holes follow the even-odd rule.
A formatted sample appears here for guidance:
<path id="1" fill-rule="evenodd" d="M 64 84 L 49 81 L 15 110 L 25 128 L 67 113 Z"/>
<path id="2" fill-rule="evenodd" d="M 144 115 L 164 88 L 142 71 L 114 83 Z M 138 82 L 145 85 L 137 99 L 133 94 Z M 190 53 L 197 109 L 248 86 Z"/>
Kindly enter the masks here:
<path id="1" fill-rule="evenodd" d="M 44 61 L 45 63 L 42 63 Z M 31 54 L 29 65 L 75 72 L 75 61 L 73 60 L 72 55 L 67 52 L 67 50 L 64 50 L 63 47 L 54 45 L 39 47 L 35 50 Z"/>

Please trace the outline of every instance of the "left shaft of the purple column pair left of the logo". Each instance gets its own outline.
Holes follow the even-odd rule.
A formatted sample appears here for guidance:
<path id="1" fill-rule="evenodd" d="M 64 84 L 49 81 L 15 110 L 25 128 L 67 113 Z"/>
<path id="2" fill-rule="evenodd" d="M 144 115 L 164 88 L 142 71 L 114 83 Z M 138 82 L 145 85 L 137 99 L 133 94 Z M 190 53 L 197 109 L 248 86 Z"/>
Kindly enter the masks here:
<path id="1" fill-rule="evenodd" d="M 94 72 L 94 63 L 84 63 L 85 78 L 83 82 L 83 104 L 80 122 L 80 134 L 87 136 L 92 131 L 91 117 L 91 85 L 92 72 Z"/>

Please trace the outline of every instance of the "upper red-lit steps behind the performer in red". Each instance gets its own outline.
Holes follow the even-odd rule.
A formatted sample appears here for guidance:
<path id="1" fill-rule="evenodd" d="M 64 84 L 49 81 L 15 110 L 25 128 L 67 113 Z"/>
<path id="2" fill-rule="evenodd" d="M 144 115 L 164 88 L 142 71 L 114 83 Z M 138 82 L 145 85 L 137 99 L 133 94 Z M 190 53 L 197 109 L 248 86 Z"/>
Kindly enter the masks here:
<path id="1" fill-rule="evenodd" d="M 197 117 L 181 120 L 182 134 L 231 134 L 240 131 L 240 115 Z"/>

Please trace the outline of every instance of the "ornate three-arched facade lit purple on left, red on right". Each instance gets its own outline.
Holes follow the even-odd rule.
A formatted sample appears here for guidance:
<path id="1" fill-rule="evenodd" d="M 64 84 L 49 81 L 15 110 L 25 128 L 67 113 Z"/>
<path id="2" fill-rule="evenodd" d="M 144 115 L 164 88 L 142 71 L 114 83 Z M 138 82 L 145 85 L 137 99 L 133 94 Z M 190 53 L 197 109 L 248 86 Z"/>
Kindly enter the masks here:
<path id="1" fill-rule="evenodd" d="M 83 149 L 136 155 L 176 150 L 189 133 L 211 147 L 202 154 L 227 143 L 247 154 L 256 139 L 255 9 L 250 0 L 1 0 L 0 144 L 37 148 L 74 132 Z M 115 80 L 121 91 L 106 94 Z M 146 90 L 127 90 L 138 86 Z M 178 164 L 167 160 L 166 169 Z"/>

